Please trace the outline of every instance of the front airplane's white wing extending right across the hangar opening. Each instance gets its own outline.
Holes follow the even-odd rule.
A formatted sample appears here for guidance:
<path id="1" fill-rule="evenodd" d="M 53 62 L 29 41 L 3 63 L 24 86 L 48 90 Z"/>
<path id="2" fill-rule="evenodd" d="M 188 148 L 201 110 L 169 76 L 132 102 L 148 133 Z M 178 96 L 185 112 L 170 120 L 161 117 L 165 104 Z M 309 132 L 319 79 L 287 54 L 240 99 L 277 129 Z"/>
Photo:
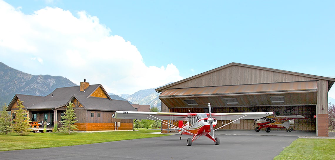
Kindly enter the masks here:
<path id="1" fill-rule="evenodd" d="M 241 113 L 212 113 L 212 117 L 218 121 L 236 119 L 259 119 L 273 114 L 273 112 L 241 112 Z M 209 114 L 207 114 L 209 116 Z"/>

